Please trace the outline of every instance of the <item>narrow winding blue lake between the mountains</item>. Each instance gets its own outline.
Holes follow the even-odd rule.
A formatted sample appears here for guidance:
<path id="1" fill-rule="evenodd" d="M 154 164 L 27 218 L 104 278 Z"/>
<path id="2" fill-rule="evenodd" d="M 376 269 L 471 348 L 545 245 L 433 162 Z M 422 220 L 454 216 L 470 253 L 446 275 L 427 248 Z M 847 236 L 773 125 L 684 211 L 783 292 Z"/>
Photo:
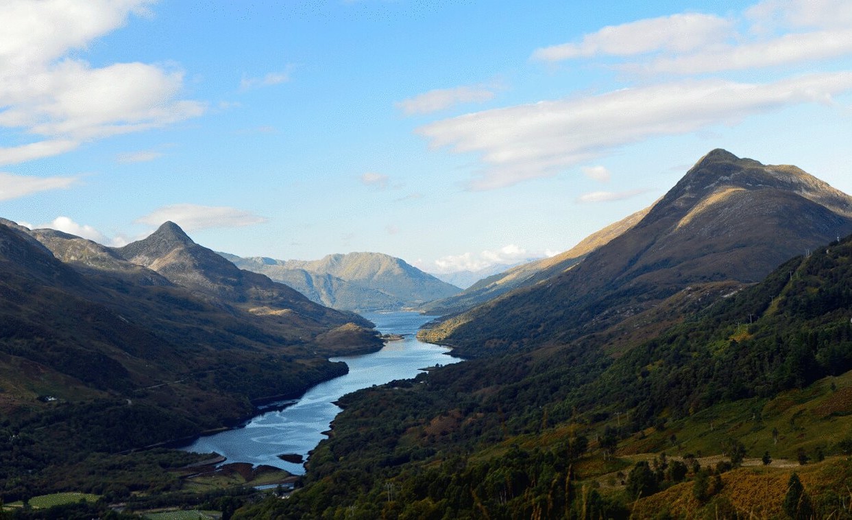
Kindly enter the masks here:
<path id="1" fill-rule="evenodd" d="M 216 452 L 227 462 L 248 462 L 253 465 L 272 465 L 296 475 L 305 472 L 301 464 L 279 459 L 280 454 L 301 454 L 316 448 L 329 430 L 331 420 L 341 408 L 332 402 L 340 397 L 373 384 L 385 384 L 394 379 L 413 378 L 424 367 L 449 365 L 462 361 L 446 355 L 449 349 L 417 340 L 417 329 L 429 321 L 429 316 L 415 312 L 365 313 L 377 330 L 387 334 L 406 334 L 406 338 L 386 344 L 382 350 L 366 355 L 333 357 L 345 361 L 349 373 L 320 383 L 308 390 L 301 399 L 283 410 L 257 415 L 245 426 L 222 431 L 181 448 L 198 453 Z"/>

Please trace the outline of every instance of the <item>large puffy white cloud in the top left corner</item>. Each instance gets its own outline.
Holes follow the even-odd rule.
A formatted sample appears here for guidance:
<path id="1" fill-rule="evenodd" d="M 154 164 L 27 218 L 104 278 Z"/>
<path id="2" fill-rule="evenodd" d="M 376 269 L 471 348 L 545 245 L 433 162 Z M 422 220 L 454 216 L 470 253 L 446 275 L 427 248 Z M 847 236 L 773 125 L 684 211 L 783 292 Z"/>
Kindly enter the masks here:
<path id="1" fill-rule="evenodd" d="M 73 50 L 146 14 L 151 0 L 7 0 L 0 3 L 0 127 L 33 141 L 0 149 L 11 164 L 66 153 L 82 142 L 173 124 L 204 113 L 179 100 L 183 73 L 144 63 L 96 68 Z"/>

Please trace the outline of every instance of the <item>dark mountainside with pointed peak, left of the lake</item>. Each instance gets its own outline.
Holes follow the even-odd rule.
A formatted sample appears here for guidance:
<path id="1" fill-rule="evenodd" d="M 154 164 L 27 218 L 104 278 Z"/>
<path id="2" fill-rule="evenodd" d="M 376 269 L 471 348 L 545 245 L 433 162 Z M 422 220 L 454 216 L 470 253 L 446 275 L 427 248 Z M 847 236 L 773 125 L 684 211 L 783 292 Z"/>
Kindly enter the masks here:
<path id="1" fill-rule="evenodd" d="M 112 249 L 4 220 L 3 492 L 51 488 L 90 454 L 233 425 L 347 372 L 329 356 L 382 344 L 369 321 L 240 271 L 174 224 Z"/>

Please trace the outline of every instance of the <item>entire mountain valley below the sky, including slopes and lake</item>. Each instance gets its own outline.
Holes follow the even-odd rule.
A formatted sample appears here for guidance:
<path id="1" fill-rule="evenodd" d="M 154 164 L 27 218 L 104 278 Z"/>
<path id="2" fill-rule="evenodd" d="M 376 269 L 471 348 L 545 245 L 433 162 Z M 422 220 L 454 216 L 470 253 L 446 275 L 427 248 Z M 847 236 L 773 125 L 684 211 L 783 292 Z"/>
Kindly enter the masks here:
<path id="1" fill-rule="evenodd" d="M 174 222 L 107 247 L 3 221 L 0 263 L 13 517 L 70 493 L 53 507 L 126 517 L 852 514 L 852 197 L 794 166 L 713 150 L 464 291 L 377 253 L 216 253 Z"/>

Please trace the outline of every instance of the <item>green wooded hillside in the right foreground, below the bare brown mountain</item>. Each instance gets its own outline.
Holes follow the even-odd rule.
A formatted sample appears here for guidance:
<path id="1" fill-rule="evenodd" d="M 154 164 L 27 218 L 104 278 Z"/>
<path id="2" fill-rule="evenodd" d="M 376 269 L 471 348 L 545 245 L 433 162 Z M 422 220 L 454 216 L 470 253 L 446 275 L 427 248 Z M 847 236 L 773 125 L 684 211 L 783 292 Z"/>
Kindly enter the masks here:
<path id="1" fill-rule="evenodd" d="M 235 517 L 847 517 L 850 259 L 852 236 L 822 244 L 615 358 L 504 352 L 344 396 L 305 487 Z"/>

